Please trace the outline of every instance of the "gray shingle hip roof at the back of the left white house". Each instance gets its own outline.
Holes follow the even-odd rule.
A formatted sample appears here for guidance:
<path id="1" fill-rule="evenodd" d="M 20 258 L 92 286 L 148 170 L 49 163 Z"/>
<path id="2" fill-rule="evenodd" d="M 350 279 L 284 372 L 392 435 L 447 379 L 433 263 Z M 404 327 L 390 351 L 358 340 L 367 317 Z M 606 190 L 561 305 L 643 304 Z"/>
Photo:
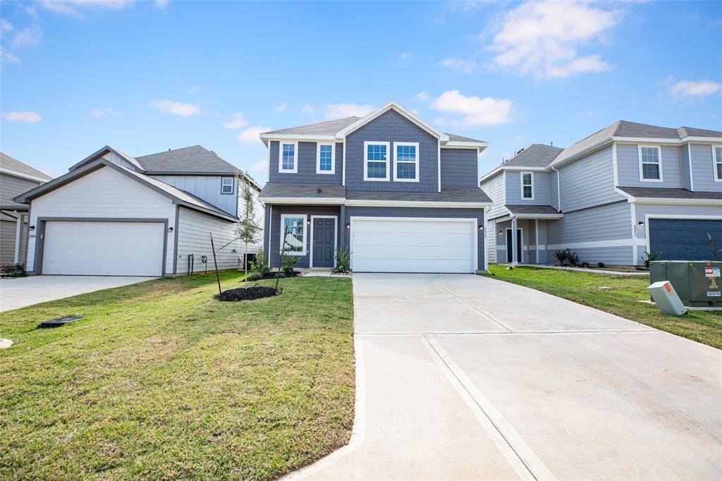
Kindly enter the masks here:
<path id="1" fill-rule="evenodd" d="M 234 174 L 235 167 L 200 145 L 136 157 L 147 173 Z"/>

